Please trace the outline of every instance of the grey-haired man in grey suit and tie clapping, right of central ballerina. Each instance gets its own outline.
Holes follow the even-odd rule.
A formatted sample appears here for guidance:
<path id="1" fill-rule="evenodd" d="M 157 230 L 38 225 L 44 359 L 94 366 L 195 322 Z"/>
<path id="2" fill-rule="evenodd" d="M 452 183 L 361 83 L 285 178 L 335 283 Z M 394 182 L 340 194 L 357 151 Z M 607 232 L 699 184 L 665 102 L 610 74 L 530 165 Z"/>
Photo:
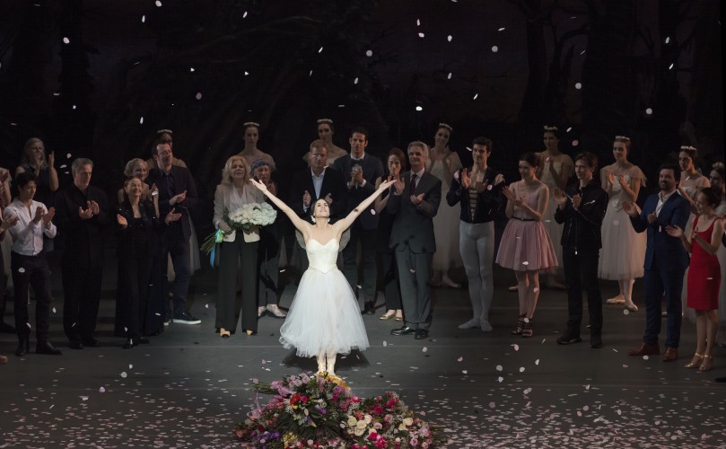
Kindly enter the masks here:
<path id="1" fill-rule="evenodd" d="M 416 339 L 429 334 L 433 253 L 433 217 L 442 199 L 442 181 L 425 171 L 429 149 L 423 142 L 408 144 L 410 172 L 405 172 L 394 184 L 386 206 L 395 216 L 390 235 L 390 247 L 396 251 L 396 263 L 403 299 L 406 323 L 391 335 L 415 333 Z"/>

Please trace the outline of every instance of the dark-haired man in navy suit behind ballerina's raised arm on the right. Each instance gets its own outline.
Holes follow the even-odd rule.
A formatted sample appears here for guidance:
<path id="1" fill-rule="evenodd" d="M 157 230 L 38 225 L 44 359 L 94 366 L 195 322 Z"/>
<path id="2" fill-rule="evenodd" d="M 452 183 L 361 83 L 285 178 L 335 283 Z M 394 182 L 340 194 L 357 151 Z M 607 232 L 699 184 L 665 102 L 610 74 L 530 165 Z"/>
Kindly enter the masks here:
<path id="1" fill-rule="evenodd" d="M 363 199 L 368 198 L 376 189 L 376 183 L 383 178 L 383 163 L 380 159 L 365 154 L 368 145 L 368 131 L 354 128 L 350 136 L 350 154 L 336 159 L 333 164 L 338 172 L 347 178 L 348 201 L 346 213 L 358 207 Z M 371 208 L 372 210 L 372 208 Z M 355 264 L 358 254 L 358 242 L 361 243 L 361 262 L 363 263 L 363 313 L 375 313 L 376 302 L 376 231 L 378 215 L 371 210 L 355 219 L 350 227 L 350 242 L 343 250 L 343 273 L 353 291 L 358 292 L 358 266 Z"/>

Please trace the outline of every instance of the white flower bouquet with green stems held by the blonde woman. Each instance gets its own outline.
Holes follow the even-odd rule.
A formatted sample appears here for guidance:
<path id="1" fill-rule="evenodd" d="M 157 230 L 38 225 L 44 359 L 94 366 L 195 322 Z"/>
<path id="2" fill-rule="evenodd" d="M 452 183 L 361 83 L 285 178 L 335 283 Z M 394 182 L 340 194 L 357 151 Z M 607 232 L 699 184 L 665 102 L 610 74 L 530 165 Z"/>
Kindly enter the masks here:
<path id="1" fill-rule="evenodd" d="M 202 246 L 199 248 L 205 251 L 205 254 L 214 253 L 216 243 L 223 242 L 225 234 L 233 241 L 234 233 L 240 232 L 244 236 L 245 242 L 257 242 L 259 240 L 259 226 L 267 226 L 275 223 L 277 211 L 268 203 L 249 203 L 234 210 L 232 213 L 226 210 L 223 220 L 232 228 L 232 233 L 225 233 L 218 230 L 208 235 Z"/>

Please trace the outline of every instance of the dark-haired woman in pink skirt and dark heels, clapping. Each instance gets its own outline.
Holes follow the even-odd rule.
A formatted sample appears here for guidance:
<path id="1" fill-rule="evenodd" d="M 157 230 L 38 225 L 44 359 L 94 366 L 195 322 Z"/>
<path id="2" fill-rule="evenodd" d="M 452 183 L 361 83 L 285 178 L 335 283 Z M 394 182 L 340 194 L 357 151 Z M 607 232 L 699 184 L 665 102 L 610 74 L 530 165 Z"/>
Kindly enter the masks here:
<path id="1" fill-rule="evenodd" d="M 532 336 L 532 321 L 539 297 L 539 270 L 557 266 L 555 248 L 542 225 L 549 189 L 537 178 L 539 164 L 537 154 L 522 154 L 519 163 L 521 180 L 503 188 L 507 198 L 506 214 L 510 220 L 504 228 L 496 254 L 496 263 L 505 269 L 513 269 L 517 277 L 520 317 L 517 330 L 512 330 L 512 334 L 522 337 Z"/>

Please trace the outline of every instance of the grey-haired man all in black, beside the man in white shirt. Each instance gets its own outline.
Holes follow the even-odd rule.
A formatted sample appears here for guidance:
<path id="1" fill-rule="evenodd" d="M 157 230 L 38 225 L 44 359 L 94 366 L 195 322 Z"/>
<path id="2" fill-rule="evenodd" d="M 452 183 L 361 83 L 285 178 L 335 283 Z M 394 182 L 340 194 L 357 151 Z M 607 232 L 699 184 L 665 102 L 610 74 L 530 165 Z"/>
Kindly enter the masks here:
<path id="1" fill-rule="evenodd" d="M 111 222 L 109 200 L 103 190 L 89 185 L 90 159 L 71 164 L 73 184 L 56 197 L 58 235 L 63 239 L 63 330 L 69 347 L 97 347 L 93 337 L 101 300 L 103 245 Z M 114 220 L 115 221 L 115 220 Z"/>

